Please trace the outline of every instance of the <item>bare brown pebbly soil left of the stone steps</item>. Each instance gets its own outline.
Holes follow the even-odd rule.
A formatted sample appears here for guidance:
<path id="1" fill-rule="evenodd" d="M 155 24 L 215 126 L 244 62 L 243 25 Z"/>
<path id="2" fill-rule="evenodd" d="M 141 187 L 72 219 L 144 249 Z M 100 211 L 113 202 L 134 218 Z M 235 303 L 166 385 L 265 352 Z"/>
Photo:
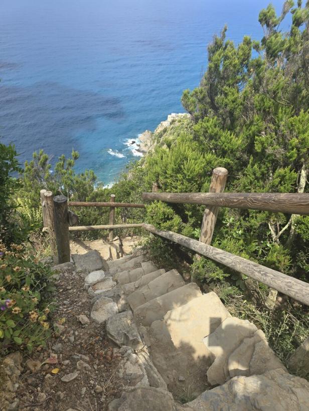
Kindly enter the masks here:
<path id="1" fill-rule="evenodd" d="M 57 309 L 51 322 L 63 322 L 65 329 L 58 336 L 54 333 L 48 341 L 48 348 L 31 355 L 25 354 L 24 371 L 17 390 L 20 400 L 18 409 L 100 411 L 106 410 L 107 404 L 117 394 L 120 395 L 123 384 L 115 372 L 121 357 L 113 355 L 114 345 L 108 341 L 105 327 L 92 321 L 82 325 L 76 318 L 79 314 L 89 317 L 91 309 L 91 298 L 83 285 L 83 276 L 72 269 L 61 273 L 56 281 Z M 55 347 L 59 343 L 60 348 Z M 44 364 L 37 372 L 31 372 L 26 366 L 29 358 L 42 363 L 55 351 L 58 351 L 57 363 Z M 79 360 L 89 367 L 80 369 L 79 375 L 71 382 L 61 381 L 64 375 L 77 371 Z M 54 368 L 60 371 L 53 374 L 51 371 Z M 96 392 L 96 387 L 97 390 L 101 389 L 98 386 L 102 388 L 101 392 Z M 41 393 L 46 395 L 46 399 L 39 403 L 42 397 L 44 399 Z"/>

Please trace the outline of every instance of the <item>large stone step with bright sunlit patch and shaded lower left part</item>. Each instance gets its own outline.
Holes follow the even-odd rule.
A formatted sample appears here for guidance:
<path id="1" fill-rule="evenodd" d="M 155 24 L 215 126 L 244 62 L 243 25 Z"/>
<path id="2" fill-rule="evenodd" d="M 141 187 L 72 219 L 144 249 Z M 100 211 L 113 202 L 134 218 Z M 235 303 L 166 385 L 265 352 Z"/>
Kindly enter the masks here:
<path id="1" fill-rule="evenodd" d="M 210 292 L 168 311 L 149 328 L 140 327 L 151 360 L 175 398 L 207 388 L 206 371 L 214 358 L 202 340 L 230 316 Z"/>

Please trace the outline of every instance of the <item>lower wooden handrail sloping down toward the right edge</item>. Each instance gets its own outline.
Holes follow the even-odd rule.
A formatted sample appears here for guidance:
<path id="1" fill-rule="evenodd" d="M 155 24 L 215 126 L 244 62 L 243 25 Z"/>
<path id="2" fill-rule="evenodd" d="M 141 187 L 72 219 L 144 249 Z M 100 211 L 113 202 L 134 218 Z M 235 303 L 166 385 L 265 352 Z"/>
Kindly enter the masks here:
<path id="1" fill-rule="evenodd" d="M 173 231 L 160 231 L 150 224 L 143 224 L 143 228 L 152 234 L 174 241 L 190 250 L 196 251 L 198 254 L 211 258 L 218 263 L 224 264 L 233 270 L 239 271 L 248 277 L 262 282 L 303 304 L 309 305 L 308 283 L 290 277 L 280 271 L 264 267 L 263 265 L 247 260 L 246 258 L 238 257 L 235 254 L 231 254 L 208 244 L 203 244 L 200 241 L 185 237 L 184 235 L 174 233 Z"/>

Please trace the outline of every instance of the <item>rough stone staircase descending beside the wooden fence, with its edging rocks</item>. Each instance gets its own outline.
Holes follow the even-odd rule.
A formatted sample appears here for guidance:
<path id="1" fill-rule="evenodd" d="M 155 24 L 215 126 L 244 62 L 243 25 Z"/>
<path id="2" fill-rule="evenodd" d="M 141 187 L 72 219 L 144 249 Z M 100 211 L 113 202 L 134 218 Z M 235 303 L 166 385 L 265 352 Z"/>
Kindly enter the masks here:
<path id="1" fill-rule="evenodd" d="M 214 292 L 202 294 L 140 250 L 107 263 L 94 253 L 73 260 L 80 271 L 88 264 L 91 319 L 122 354 L 126 387 L 110 411 L 309 409 L 309 383 Z"/>

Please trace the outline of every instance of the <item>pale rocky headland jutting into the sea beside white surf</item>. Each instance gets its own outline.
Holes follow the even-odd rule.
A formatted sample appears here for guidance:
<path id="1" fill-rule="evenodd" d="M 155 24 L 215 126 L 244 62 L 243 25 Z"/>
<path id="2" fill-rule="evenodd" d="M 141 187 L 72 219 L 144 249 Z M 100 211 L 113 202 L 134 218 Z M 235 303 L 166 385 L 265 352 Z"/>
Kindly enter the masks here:
<path id="1" fill-rule="evenodd" d="M 136 145 L 138 148 L 136 151 L 143 156 L 148 152 L 152 151 L 156 145 L 156 139 L 154 138 L 156 134 L 163 131 L 165 128 L 170 127 L 171 124 L 184 117 L 190 117 L 188 113 L 172 113 L 168 115 L 167 120 L 162 121 L 154 132 L 150 130 L 145 130 L 141 133 L 136 140 L 132 140 L 130 145 Z"/>

